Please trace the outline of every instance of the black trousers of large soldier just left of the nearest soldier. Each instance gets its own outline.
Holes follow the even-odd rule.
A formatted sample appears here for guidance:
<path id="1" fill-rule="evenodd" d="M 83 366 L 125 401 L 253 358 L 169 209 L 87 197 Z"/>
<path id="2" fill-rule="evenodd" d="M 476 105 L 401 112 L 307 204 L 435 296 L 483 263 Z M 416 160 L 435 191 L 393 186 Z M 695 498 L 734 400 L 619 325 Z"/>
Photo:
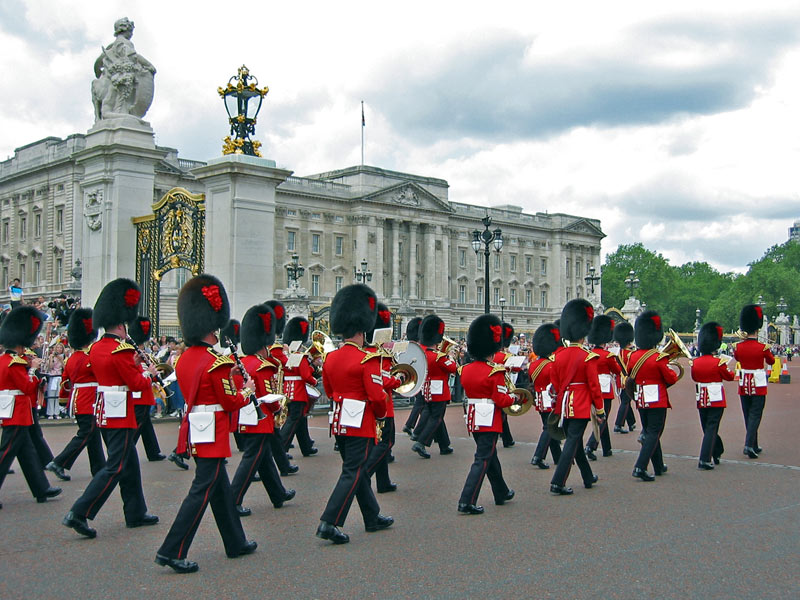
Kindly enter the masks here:
<path id="1" fill-rule="evenodd" d="M 147 512 L 142 491 L 142 473 L 136 453 L 135 429 L 102 429 L 108 450 L 106 466 L 92 477 L 83 495 L 72 505 L 77 517 L 94 519 L 119 483 L 126 523 L 139 522 Z"/>

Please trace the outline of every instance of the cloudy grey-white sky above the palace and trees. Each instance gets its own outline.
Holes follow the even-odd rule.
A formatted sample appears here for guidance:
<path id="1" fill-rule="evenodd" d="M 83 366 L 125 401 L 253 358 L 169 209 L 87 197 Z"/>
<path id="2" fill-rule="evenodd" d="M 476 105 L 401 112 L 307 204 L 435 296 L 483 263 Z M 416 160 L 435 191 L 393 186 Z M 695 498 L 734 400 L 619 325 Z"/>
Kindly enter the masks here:
<path id="1" fill-rule="evenodd" d="M 796 1 L 0 0 L 0 159 L 92 125 L 122 16 L 158 69 L 146 119 L 185 158 L 220 154 L 216 89 L 245 63 L 263 153 L 298 175 L 360 162 L 364 100 L 367 164 L 599 218 L 604 253 L 742 271 L 800 218 Z"/>

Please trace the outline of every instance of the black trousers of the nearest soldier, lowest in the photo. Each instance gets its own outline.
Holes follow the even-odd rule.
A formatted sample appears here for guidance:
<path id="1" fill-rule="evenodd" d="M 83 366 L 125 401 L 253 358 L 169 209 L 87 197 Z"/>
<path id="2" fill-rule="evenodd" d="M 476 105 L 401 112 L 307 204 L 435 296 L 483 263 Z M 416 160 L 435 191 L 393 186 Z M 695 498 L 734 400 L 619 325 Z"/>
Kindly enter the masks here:
<path id="1" fill-rule="evenodd" d="M 245 436 L 247 437 L 247 436 Z M 158 554 L 167 558 L 186 558 L 189 546 L 197 533 L 206 507 L 211 504 L 217 529 L 225 545 L 228 556 L 238 556 L 247 539 L 242 522 L 233 504 L 228 472 L 223 464 L 224 458 L 195 457 L 195 473 L 192 487 L 183 499 L 175 522 L 167 533 Z"/>

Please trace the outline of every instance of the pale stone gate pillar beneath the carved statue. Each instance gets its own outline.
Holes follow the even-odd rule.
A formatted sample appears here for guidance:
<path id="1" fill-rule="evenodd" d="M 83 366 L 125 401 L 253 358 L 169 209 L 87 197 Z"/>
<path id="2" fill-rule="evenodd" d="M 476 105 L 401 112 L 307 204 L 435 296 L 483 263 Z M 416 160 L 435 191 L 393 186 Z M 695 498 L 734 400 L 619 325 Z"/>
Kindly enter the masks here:
<path id="1" fill-rule="evenodd" d="M 132 217 L 148 214 L 153 204 L 158 150 L 150 125 L 136 117 L 97 121 L 76 153 L 83 167 L 82 196 L 75 199 L 76 246 L 81 248 L 81 295 L 91 306 L 100 290 L 117 277 L 136 276 L 136 229 Z"/>

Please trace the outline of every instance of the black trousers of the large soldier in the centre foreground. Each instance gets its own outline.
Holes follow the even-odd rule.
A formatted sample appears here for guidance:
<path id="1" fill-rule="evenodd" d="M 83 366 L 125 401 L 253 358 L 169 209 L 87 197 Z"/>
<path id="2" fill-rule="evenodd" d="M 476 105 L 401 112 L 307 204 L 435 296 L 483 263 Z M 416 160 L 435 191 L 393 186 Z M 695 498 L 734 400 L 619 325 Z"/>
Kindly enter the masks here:
<path id="1" fill-rule="evenodd" d="M 381 508 L 372 492 L 367 473 L 367 460 L 375 440 L 337 435 L 336 443 L 339 445 L 339 454 L 342 455 L 342 472 L 320 520 L 341 527 L 355 498 L 364 518 L 364 525 L 372 525 Z"/>

